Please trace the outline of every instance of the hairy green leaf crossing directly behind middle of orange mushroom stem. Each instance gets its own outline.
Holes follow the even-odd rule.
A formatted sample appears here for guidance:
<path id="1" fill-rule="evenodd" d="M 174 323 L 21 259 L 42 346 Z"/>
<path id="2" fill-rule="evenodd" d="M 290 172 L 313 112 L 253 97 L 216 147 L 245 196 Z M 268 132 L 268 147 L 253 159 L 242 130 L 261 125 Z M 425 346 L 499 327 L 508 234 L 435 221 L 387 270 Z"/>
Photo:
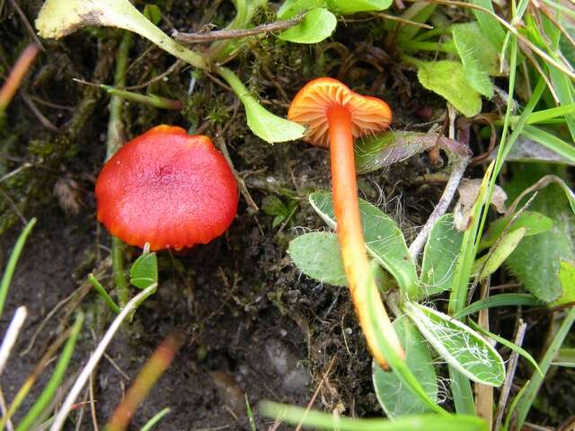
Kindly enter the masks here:
<path id="1" fill-rule="evenodd" d="M 309 201 L 323 221 L 335 229 L 332 193 L 316 191 L 309 196 Z M 367 252 L 394 276 L 406 295 L 414 295 L 417 286 L 415 263 L 394 219 L 363 199 L 359 199 L 359 213 Z"/>

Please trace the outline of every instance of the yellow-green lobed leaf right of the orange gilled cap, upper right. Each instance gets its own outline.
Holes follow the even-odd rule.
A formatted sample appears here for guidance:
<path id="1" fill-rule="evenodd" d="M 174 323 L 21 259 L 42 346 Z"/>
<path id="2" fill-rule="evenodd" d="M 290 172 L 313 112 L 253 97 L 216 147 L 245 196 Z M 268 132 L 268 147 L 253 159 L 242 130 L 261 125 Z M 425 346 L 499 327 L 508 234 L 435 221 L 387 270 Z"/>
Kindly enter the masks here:
<path id="1" fill-rule="evenodd" d="M 465 117 L 473 117 L 482 110 L 482 98 L 467 82 L 461 63 L 451 60 L 421 61 L 418 62 L 417 77 L 421 85 L 443 96 Z"/>

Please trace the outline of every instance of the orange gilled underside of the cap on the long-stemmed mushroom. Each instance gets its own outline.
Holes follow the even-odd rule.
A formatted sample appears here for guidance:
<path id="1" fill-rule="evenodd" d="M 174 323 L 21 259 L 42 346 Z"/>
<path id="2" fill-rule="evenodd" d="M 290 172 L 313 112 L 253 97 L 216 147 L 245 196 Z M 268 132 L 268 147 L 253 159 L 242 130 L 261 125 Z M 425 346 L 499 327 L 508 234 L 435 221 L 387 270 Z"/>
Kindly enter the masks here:
<path id="1" fill-rule="evenodd" d="M 333 78 L 317 78 L 305 84 L 289 105 L 288 119 L 307 127 L 305 142 L 329 147 L 327 111 L 338 104 L 349 109 L 354 137 L 380 132 L 392 122 L 392 110 L 385 101 L 352 92 Z"/>

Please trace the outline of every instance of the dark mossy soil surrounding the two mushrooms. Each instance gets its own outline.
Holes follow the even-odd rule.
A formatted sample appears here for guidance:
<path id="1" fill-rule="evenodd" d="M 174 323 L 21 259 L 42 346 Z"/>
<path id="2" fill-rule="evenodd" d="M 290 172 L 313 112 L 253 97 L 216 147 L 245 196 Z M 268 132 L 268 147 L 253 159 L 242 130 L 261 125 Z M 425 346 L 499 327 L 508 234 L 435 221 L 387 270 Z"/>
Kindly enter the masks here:
<path id="1" fill-rule="evenodd" d="M 41 2 L 18 3 L 33 22 Z M 202 22 L 212 2 L 162 3 L 167 18 L 164 30 L 170 30 L 166 22 L 179 30 L 197 30 L 194 23 Z M 221 9 L 213 18 L 220 25 L 229 20 L 227 13 L 232 13 L 226 6 Z M 13 64 L 29 40 L 22 20 L 4 5 L 0 58 Z M 28 307 L 29 318 L 17 353 L 3 375 L 8 400 L 49 344 L 69 325 L 70 315 L 81 309 L 87 316 L 73 372 L 84 365 L 112 318 L 102 300 L 89 292 L 75 308 L 66 303 L 58 309 L 40 329 L 47 314 L 81 289 L 87 274 L 102 268 L 109 255 L 110 236 L 96 221 L 93 195 L 105 155 L 108 98 L 100 89 L 76 84 L 72 78 L 111 83 L 118 40 L 117 31 L 90 29 L 61 41 L 44 41 L 46 51 L 24 88 L 35 98 L 64 106 L 37 104 L 59 131 L 44 128 L 21 97 L 13 101 L 6 127 L 0 128 L 0 173 L 11 172 L 25 162 L 33 164 L 0 184 L 3 194 L 12 200 L 0 203 L 4 262 L 22 228 L 18 213 L 39 217 L 1 321 L 4 333 L 15 307 Z M 434 111 L 442 109 L 442 101 L 412 87 L 416 80 L 411 72 L 394 66 L 393 50 L 377 48 L 381 41 L 373 22 L 349 23 L 347 28 L 339 26 L 331 42 L 312 48 L 279 44 L 273 37 L 261 40 L 230 66 L 270 101 L 270 110 L 282 115 L 288 104 L 282 92 L 291 97 L 308 79 L 332 75 L 358 92 L 390 101 L 396 128 L 424 121 L 416 114 L 421 108 L 430 108 L 437 118 Z M 173 65 L 173 57 L 148 48 L 150 43 L 137 39 L 130 52 L 128 85 L 144 83 Z M 371 387 L 370 359 L 347 292 L 306 279 L 286 256 L 297 226 L 322 227 L 306 197 L 310 190 L 329 188 L 328 154 L 304 143 L 265 144 L 245 127 L 243 110 L 238 109 L 232 94 L 204 76 L 186 99 L 189 80 L 190 70 L 180 67 L 167 80 L 140 90 L 184 100 L 187 110 L 181 115 L 127 104 L 128 138 L 162 123 L 199 129 L 208 136 L 224 132 L 234 167 L 256 204 L 261 206 L 265 198 L 275 196 L 285 202 L 296 200 L 298 208 L 287 224 L 272 228 L 272 216 L 256 212 L 242 199 L 234 224 L 223 237 L 190 251 L 159 254 L 157 294 L 138 309 L 133 323 L 120 331 L 108 350 L 109 359 L 102 360 L 95 375 L 95 411 L 101 427 L 146 358 L 173 330 L 185 334 L 184 345 L 137 410 L 130 429 L 139 429 L 164 407 L 172 411 L 158 429 L 249 429 L 244 396 L 252 407 L 263 399 L 305 406 L 324 376 L 316 407 L 349 416 L 380 415 Z M 473 146 L 476 153 L 482 152 L 482 142 L 475 140 Z M 441 192 L 441 183 L 421 185 L 416 177 L 436 171 L 428 157 L 421 155 L 362 178 L 361 191 L 368 200 L 385 206 L 409 238 L 413 226 L 425 221 Z M 128 250 L 128 258 L 135 259 L 137 253 Z M 111 288 L 111 269 L 104 267 L 103 272 L 102 283 Z M 37 331 L 33 347 L 25 353 Z M 32 394 L 38 393 L 47 379 L 43 374 L 39 389 Z M 22 412 L 32 400 L 30 396 L 24 401 Z M 554 409 L 562 410 L 561 406 Z M 566 416 L 567 412 L 559 411 L 556 418 Z M 258 429 L 271 425 L 257 414 L 256 420 Z M 80 429 L 92 429 L 89 408 Z"/>

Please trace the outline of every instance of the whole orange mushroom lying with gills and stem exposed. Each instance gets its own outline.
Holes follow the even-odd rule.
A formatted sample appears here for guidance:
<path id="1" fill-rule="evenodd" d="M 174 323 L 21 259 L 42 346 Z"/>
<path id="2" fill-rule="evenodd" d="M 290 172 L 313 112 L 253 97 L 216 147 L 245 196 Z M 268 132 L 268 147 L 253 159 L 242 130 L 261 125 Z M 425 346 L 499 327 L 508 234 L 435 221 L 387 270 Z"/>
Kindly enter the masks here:
<path id="1" fill-rule="evenodd" d="M 335 79 L 318 78 L 297 92 L 288 119 L 307 127 L 306 142 L 330 147 L 333 208 L 349 292 L 367 346 L 377 363 L 388 368 L 385 348 L 391 347 L 400 357 L 404 354 L 367 260 L 353 140 L 388 128 L 392 112 L 385 101 L 352 92 Z M 384 343 L 387 346 L 382 346 Z"/>

